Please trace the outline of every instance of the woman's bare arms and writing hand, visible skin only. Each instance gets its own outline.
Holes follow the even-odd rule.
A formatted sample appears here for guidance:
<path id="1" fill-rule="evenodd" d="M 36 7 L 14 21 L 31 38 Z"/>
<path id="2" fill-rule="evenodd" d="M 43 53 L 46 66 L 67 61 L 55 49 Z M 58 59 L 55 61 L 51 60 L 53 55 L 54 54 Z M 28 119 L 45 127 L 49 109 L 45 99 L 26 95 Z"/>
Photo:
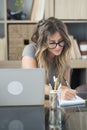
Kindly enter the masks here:
<path id="1" fill-rule="evenodd" d="M 22 68 L 36 68 L 36 60 L 29 56 L 23 56 L 22 58 Z M 45 94 L 49 95 L 49 85 L 45 85 Z M 62 99 L 71 99 L 75 97 L 76 90 L 70 89 L 67 86 L 62 86 L 61 98 Z"/>

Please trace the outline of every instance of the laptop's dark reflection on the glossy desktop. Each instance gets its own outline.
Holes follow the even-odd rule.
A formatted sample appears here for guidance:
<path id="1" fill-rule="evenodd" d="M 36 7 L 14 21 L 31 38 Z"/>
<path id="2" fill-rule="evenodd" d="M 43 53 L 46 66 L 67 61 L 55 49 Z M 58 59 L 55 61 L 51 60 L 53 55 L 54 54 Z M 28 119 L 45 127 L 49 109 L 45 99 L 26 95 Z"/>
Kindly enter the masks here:
<path id="1" fill-rule="evenodd" d="M 44 107 L 0 107 L 0 130 L 45 130 Z"/>

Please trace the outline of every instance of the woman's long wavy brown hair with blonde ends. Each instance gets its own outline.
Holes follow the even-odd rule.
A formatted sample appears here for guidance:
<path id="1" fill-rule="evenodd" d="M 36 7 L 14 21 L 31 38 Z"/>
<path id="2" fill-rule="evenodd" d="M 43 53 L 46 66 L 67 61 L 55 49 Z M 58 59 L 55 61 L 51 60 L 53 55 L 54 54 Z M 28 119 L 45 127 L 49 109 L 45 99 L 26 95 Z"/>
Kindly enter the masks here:
<path id="1" fill-rule="evenodd" d="M 38 22 L 36 30 L 31 38 L 31 40 L 37 45 L 36 59 L 38 67 L 45 68 L 47 82 L 49 82 L 50 65 L 48 57 L 48 38 L 56 32 L 58 32 L 66 42 L 61 54 L 59 56 L 55 56 L 54 58 L 54 73 L 62 82 L 66 67 L 69 63 L 69 52 L 71 48 L 71 42 L 66 25 L 61 20 L 54 17 L 41 20 Z"/>

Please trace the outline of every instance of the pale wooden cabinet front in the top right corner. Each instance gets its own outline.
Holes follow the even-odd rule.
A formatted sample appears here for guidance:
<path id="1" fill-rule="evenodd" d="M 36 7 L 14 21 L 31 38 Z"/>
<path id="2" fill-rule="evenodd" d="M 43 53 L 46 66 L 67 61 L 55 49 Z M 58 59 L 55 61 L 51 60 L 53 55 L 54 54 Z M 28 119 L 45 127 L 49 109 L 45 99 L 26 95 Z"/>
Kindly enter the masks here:
<path id="1" fill-rule="evenodd" d="M 55 0 L 55 17 L 59 19 L 87 19 L 87 0 Z"/>

